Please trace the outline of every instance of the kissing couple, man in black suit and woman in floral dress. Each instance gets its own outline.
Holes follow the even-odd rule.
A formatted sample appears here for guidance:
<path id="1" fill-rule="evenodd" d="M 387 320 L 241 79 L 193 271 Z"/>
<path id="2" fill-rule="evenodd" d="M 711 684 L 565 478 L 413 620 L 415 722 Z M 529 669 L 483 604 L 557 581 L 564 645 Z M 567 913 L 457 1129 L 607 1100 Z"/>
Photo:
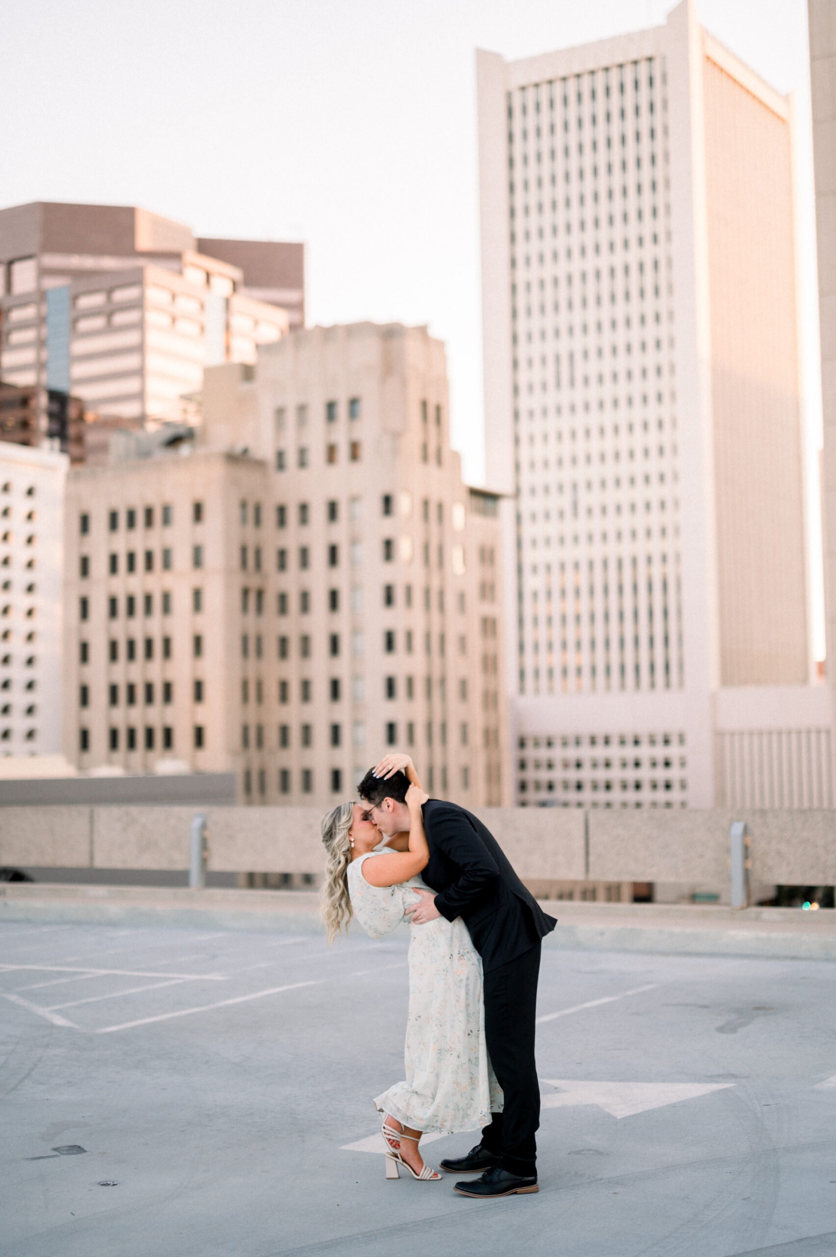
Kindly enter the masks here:
<path id="1" fill-rule="evenodd" d="M 522 885 L 482 822 L 429 798 L 409 755 L 385 755 L 360 802 L 323 820 L 323 916 L 329 943 L 353 916 L 372 938 L 409 923 L 407 1077 L 377 1096 L 387 1178 L 422 1182 L 421 1136 L 478 1130 L 441 1161 L 461 1195 L 537 1192 L 540 1087 L 535 1011 L 540 950 L 556 921 Z"/>

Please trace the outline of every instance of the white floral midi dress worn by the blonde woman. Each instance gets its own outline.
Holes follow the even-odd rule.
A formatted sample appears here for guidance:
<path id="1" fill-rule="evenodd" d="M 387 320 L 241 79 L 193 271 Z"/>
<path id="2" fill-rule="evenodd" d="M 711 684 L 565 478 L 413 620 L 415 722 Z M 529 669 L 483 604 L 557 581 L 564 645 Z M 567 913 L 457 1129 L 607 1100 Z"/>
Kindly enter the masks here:
<path id="1" fill-rule="evenodd" d="M 363 862 L 348 869 L 351 909 L 374 939 L 389 934 L 414 903 L 413 887 L 428 890 L 419 877 L 397 886 L 370 886 Z M 485 1042 L 482 958 L 461 916 L 443 916 L 409 926 L 409 1014 L 404 1046 L 407 1077 L 375 1097 L 380 1112 L 392 1114 L 413 1130 L 452 1134 L 478 1130 L 502 1110 Z"/>

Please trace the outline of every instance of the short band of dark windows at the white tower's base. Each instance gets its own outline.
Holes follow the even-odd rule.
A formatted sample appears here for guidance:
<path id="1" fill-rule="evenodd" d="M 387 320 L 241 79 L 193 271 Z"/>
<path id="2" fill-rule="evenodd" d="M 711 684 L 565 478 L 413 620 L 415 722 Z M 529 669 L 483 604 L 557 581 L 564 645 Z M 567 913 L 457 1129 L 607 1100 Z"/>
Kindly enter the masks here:
<path id="1" fill-rule="evenodd" d="M 517 739 L 522 807 L 687 807 L 684 733 Z"/>

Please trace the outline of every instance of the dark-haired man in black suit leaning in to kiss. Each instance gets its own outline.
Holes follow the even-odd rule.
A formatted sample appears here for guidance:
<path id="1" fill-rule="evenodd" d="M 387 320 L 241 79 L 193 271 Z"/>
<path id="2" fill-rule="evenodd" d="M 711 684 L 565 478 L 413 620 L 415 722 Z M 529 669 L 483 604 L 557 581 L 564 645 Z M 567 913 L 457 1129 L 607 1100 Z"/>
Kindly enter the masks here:
<path id="1" fill-rule="evenodd" d="M 393 757 L 394 758 L 394 757 Z M 404 802 L 409 781 L 403 772 L 365 774 L 358 791 L 367 815 L 393 837 L 409 828 Z M 418 891 L 414 924 L 461 916 L 482 957 L 485 1036 L 505 1111 L 491 1115 L 482 1141 L 467 1156 L 443 1160 L 442 1169 L 476 1182 L 456 1184 L 462 1195 L 493 1199 L 537 1190 L 535 1131 L 540 1125 L 540 1086 L 535 1065 L 535 1011 L 540 949 L 556 921 L 546 916 L 522 885 L 488 828 L 456 803 L 431 798 L 423 806 L 429 864 L 422 877 L 436 894 Z"/>

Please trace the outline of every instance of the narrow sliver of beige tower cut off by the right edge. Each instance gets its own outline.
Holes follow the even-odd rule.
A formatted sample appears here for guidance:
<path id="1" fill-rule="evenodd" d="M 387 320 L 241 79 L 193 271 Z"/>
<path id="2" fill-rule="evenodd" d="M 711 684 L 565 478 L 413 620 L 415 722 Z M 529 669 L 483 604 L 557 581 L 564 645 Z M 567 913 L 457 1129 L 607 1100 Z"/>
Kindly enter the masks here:
<path id="1" fill-rule="evenodd" d="M 823 410 L 822 523 L 831 710 L 836 715 L 836 24 L 827 0 L 808 0 L 816 170 L 816 236 Z M 836 738 L 832 744 L 836 755 Z M 836 764 L 833 766 L 836 772 Z"/>

